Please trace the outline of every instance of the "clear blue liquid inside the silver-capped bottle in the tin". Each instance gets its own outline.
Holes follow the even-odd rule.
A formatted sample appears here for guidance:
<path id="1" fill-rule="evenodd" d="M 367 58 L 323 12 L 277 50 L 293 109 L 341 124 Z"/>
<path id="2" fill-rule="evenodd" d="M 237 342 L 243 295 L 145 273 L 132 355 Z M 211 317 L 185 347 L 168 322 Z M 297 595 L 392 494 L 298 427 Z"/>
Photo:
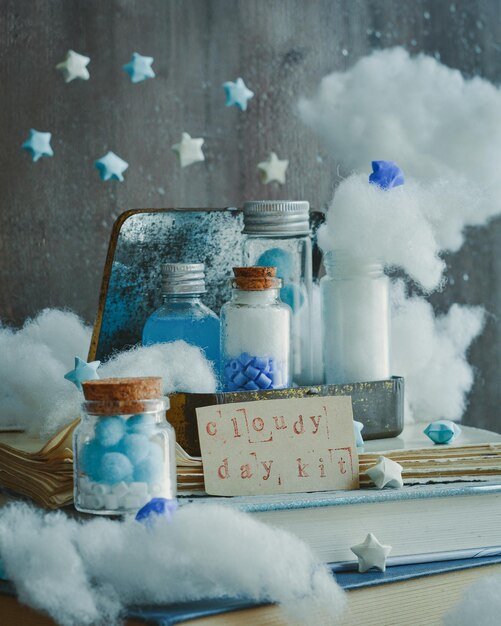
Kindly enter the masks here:
<path id="1" fill-rule="evenodd" d="M 216 372 L 219 372 L 219 336 L 219 319 L 214 314 L 189 317 L 153 313 L 143 329 L 143 346 L 184 339 L 186 343 L 202 348 Z"/>

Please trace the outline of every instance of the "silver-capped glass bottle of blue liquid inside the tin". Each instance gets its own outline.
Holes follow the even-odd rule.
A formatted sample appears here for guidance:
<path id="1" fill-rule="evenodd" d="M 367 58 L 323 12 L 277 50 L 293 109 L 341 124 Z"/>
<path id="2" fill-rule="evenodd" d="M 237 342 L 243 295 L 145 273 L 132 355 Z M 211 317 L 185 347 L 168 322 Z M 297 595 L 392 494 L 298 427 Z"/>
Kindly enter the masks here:
<path id="1" fill-rule="evenodd" d="M 143 345 L 184 339 L 202 348 L 219 371 L 220 323 L 200 299 L 205 291 L 203 263 L 164 263 L 163 304 L 146 320 Z"/>

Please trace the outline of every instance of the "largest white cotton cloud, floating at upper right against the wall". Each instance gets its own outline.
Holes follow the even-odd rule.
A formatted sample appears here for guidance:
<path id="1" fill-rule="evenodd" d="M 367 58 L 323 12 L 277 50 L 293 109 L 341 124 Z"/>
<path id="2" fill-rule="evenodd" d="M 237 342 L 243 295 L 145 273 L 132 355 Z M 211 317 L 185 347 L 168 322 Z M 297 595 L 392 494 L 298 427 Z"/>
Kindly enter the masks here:
<path id="1" fill-rule="evenodd" d="M 326 76 L 299 103 L 303 121 L 347 173 L 368 174 L 373 159 L 389 159 L 408 180 L 429 184 L 423 214 L 438 249 L 451 251 L 462 245 L 465 226 L 501 211 L 500 110 L 498 87 L 403 48 Z"/>

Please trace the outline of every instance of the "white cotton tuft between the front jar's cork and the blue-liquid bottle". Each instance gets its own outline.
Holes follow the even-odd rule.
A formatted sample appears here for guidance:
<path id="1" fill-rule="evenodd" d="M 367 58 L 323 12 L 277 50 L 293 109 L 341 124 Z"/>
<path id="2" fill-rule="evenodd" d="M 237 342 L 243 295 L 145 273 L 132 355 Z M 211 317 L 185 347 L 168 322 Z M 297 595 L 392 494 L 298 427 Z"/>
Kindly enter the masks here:
<path id="1" fill-rule="evenodd" d="M 202 350 L 185 341 L 121 352 L 99 368 L 99 376 L 161 376 L 165 395 L 176 391 L 214 393 L 217 386 L 214 369 Z"/>

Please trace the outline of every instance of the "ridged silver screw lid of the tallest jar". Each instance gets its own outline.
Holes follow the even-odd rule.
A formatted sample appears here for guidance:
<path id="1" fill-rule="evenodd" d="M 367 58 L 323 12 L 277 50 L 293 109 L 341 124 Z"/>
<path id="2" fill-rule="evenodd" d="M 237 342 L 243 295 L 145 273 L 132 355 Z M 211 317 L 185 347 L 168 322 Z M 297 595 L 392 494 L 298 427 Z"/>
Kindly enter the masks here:
<path id="1" fill-rule="evenodd" d="M 306 200 L 252 200 L 243 206 L 246 235 L 279 237 L 310 234 L 310 203 Z"/>

